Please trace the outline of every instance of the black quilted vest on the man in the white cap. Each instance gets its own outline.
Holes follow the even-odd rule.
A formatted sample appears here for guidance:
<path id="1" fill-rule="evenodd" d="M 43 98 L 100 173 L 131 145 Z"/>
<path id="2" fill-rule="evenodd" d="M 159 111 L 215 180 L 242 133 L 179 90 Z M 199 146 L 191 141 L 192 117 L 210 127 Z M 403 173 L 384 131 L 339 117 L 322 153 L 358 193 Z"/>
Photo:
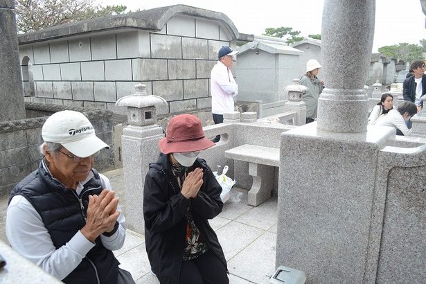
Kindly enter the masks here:
<path id="1" fill-rule="evenodd" d="M 58 249 L 85 226 L 89 195 L 99 195 L 103 190 L 98 172 L 94 169 L 92 172 L 94 177 L 85 184 L 78 196 L 76 190 L 65 188 L 53 179 L 40 163 L 38 170 L 31 172 L 13 188 L 9 202 L 15 195 L 24 196 L 41 216 Z M 112 251 L 106 249 L 98 237 L 95 247 L 62 282 L 115 284 L 119 264 Z"/>

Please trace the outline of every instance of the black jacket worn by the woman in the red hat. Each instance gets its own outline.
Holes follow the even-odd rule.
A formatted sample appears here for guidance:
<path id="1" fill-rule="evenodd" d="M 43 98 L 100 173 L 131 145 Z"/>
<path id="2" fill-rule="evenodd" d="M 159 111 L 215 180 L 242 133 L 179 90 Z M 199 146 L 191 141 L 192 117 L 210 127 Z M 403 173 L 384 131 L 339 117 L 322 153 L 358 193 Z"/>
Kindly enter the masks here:
<path id="1" fill-rule="evenodd" d="M 220 199 L 222 188 L 206 161 L 197 159 L 188 172 L 193 168 L 202 168 L 204 172 L 204 183 L 197 197 L 191 202 L 194 222 L 205 238 L 208 249 L 211 249 L 227 267 L 218 237 L 207 221 L 222 211 L 223 203 Z M 189 200 L 180 193 L 168 156 L 161 154 L 156 163 L 150 164 L 143 192 L 145 246 L 151 267 L 161 284 L 179 283 L 179 272 L 186 245 L 185 212 L 188 204 Z"/>

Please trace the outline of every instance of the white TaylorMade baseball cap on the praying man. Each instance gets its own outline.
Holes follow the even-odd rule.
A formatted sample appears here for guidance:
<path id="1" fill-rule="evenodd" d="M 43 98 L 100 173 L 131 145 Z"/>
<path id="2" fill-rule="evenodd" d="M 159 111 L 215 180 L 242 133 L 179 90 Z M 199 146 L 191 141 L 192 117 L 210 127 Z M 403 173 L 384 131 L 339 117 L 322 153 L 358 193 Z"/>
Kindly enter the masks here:
<path id="1" fill-rule="evenodd" d="M 44 142 L 59 143 L 78 157 L 85 158 L 109 146 L 100 140 L 89 119 L 81 112 L 55 112 L 42 127 Z"/>

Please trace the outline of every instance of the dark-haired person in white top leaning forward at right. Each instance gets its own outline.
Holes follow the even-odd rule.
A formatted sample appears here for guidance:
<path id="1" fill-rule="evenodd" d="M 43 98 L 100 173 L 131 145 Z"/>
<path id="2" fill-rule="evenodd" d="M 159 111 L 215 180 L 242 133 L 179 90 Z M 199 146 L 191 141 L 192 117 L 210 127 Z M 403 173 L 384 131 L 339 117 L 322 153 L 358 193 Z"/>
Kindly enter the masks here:
<path id="1" fill-rule="evenodd" d="M 378 126 L 392 126 L 396 128 L 397 135 L 409 136 L 411 130 L 407 127 L 407 121 L 417 114 L 417 106 L 405 100 L 404 102 L 398 105 L 398 111 L 391 109 L 389 113 L 385 116 L 380 116 L 376 121 L 375 125 Z"/>

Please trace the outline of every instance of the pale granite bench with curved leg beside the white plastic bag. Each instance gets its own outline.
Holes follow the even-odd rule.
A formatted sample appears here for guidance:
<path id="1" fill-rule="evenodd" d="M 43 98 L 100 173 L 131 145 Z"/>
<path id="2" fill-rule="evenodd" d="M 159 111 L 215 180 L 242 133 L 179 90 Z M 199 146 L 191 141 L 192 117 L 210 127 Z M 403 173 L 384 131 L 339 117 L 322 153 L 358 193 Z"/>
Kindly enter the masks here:
<path id="1" fill-rule="evenodd" d="M 274 167 L 280 166 L 280 149 L 244 144 L 225 151 L 225 158 L 249 163 L 253 184 L 248 204 L 258 206 L 271 197 L 274 188 Z"/>

